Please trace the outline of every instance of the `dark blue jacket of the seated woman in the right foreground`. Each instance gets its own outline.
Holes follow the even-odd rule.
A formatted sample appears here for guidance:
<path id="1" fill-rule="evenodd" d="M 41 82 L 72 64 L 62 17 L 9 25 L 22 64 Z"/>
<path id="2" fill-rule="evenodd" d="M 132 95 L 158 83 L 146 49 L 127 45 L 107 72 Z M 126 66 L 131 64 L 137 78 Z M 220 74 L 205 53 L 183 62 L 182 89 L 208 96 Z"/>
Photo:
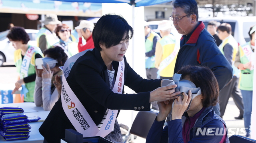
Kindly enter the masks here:
<path id="1" fill-rule="evenodd" d="M 212 106 L 205 108 L 192 129 L 190 129 L 190 140 L 188 143 L 219 143 L 224 135 L 225 121 L 220 116 L 215 114 Z M 146 143 L 183 143 L 182 127 L 188 114 L 185 112 L 182 119 L 175 119 L 168 121 L 163 129 L 163 121 L 154 121 Z M 208 129 L 212 133 L 208 132 Z M 200 130 L 198 130 L 200 129 Z M 228 131 L 226 130 L 226 135 Z M 202 135 L 203 134 L 203 135 Z M 204 135 L 205 134 L 205 135 Z M 229 143 L 228 136 L 226 136 L 226 143 Z"/>

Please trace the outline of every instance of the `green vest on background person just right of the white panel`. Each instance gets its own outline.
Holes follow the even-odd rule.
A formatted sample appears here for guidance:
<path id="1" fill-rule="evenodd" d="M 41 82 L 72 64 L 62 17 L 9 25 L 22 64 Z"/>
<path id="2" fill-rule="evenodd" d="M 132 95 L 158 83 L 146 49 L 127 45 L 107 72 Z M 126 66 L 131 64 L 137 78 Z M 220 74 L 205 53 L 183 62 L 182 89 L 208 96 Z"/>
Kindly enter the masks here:
<path id="1" fill-rule="evenodd" d="M 150 35 L 148 36 L 148 38 L 145 41 L 146 53 L 152 50 L 153 39 L 155 36 L 158 36 L 160 39 L 160 36 L 157 33 L 155 33 L 154 31 L 150 31 Z M 145 62 L 146 62 L 146 69 L 154 68 L 155 67 L 155 55 L 152 57 L 146 57 Z"/>

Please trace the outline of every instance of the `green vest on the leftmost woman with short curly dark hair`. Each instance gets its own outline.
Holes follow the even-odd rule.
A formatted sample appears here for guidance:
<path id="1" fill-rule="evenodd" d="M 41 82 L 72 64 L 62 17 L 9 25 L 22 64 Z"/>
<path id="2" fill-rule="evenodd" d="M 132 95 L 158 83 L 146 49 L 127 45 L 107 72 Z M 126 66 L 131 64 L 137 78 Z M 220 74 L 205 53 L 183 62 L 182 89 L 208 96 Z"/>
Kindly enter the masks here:
<path id="1" fill-rule="evenodd" d="M 30 47 L 30 45 L 29 45 L 29 47 Z M 36 68 L 35 68 L 35 55 L 36 54 L 40 54 L 43 57 L 43 54 L 41 51 L 35 51 L 33 53 L 31 60 L 30 60 L 30 65 L 28 68 L 28 76 L 36 73 Z M 20 73 L 20 68 L 21 68 L 21 64 L 22 64 L 22 56 L 21 56 L 20 49 L 14 51 L 14 62 L 15 62 L 15 66 L 17 68 L 17 72 Z M 24 98 L 24 101 L 25 102 L 34 102 L 35 81 L 25 83 L 25 86 L 28 89 L 28 93 L 26 93 L 26 98 Z"/>

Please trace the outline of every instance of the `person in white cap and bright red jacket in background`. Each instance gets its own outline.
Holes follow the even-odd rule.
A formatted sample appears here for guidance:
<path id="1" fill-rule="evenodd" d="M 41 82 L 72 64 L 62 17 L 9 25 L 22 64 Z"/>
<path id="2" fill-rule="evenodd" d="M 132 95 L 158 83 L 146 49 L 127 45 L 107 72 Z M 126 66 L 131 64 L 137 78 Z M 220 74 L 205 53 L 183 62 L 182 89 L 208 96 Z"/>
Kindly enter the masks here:
<path id="1" fill-rule="evenodd" d="M 80 24 L 75 27 L 75 29 L 80 29 L 80 32 L 78 32 L 78 35 L 79 35 L 78 51 L 79 52 L 94 48 L 94 43 L 92 40 L 93 28 L 94 28 L 93 22 L 90 22 L 88 20 L 82 20 Z M 85 45 L 83 45 L 82 43 L 82 37 L 84 37 L 84 39 L 86 40 Z"/>

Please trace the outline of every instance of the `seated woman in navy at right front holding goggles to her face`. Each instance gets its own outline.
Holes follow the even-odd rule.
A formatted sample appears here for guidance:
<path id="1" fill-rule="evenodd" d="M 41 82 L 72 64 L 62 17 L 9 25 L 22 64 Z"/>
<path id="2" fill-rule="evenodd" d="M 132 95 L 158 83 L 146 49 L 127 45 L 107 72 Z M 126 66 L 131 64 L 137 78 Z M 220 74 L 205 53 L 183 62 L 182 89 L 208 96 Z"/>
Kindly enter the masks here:
<path id="1" fill-rule="evenodd" d="M 200 87 L 201 94 L 193 95 L 189 90 L 188 94 L 182 93 L 183 99 L 178 96 L 174 101 L 158 102 L 159 114 L 148 133 L 146 143 L 226 143 L 226 124 L 212 110 L 219 95 L 218 82 L 213 72 L 208 67 L 186 66 L 178 74 L 182 74 L 183 80 L 189 80 Z M 171 120 L 163 129 L 164 121 L 171 111 Z"/>

